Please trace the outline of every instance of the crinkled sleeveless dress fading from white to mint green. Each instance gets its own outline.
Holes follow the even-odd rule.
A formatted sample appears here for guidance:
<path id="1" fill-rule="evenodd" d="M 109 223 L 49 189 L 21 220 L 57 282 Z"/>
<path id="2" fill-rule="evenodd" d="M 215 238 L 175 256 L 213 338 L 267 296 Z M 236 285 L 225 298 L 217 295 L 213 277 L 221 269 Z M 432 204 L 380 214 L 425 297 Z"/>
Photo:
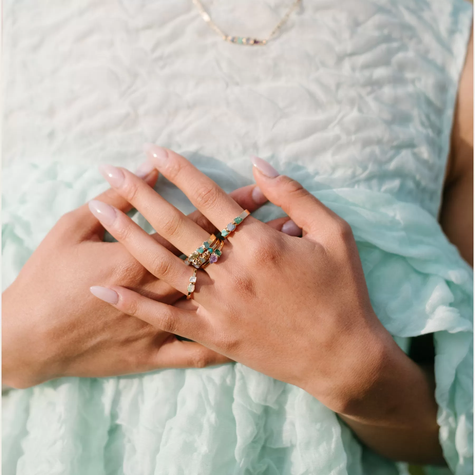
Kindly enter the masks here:
<path id="1" fill-rule="evenodd" d="M 259 37 L 288 2 L 204 3 L 229 34 Z M 278 39 L 244 47 L 189 0 L 6 1 L 3 288 L 106 188 L 99 162 L 133 169 L 156 142 L 230 191 L 259 155 L 350 223 L 401 347 L 434 334 L 440 442 L 454 474 L 473 474 L 473 272 L 437 223 L 471 21 L 462 0 L 304 1 Z M 7 392 L 2 416 L 4 475 L 407 473 L 241 364 L 55 380 Z"/>

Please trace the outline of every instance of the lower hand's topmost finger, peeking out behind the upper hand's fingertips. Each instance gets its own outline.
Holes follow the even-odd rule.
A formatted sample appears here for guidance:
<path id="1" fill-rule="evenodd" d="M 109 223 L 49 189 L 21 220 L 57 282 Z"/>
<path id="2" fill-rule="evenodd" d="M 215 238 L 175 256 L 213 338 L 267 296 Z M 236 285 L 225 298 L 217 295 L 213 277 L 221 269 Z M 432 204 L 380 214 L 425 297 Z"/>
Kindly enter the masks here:
<path id="1" fill-rule="evenodd" d="M 158 178 L 158 171 L 150 166 L 146 161 L 135 171 L 135 175 L 142 179 L 149 187 L 153 187 Z M 96 196 L 95 199 L 103 201 L 124 213 L 132 209 L 132 205 L 112 188 Z M 104 239 L 104 228 L 99 221 L 89 212 L 87 203 L 71 211 L 65 217 L 66 228 L 73 232 L 80 240 L 84 241 L 91 237 L 102 241 Z M 70 219 L 69 219 L 70 218 Z"/>

